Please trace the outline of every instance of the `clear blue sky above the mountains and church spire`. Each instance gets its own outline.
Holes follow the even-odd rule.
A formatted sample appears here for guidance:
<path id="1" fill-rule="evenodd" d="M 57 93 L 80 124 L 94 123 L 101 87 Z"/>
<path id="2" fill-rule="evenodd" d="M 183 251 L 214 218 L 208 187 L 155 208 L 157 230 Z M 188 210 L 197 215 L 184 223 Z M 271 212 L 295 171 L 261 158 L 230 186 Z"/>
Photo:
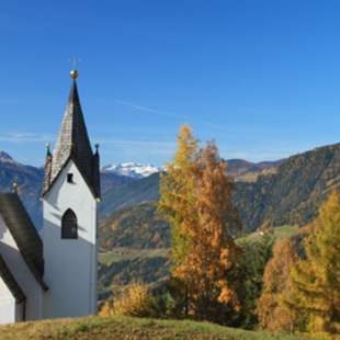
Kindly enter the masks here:
<path id="1" fill-rule="evenodd" d="M 0 149 L 42 165 L 77 55 L 102 163 L 161 165 L 189 123 L 225 158 L 340 138 L 337 0 L 1 1 Z"/>

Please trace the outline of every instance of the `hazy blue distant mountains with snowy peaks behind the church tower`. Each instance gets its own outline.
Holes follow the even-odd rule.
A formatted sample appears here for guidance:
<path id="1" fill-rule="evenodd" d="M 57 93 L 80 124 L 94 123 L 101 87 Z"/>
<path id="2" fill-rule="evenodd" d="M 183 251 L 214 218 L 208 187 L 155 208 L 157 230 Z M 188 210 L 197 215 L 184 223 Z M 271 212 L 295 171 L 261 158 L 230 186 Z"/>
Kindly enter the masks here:
<path id="1" fill-rule="evenodd" d="M 245 173 L 247 169 L 253 169 L 254 163 L 231 160 L 229 167 L 235 174 Z M 102 216 L 109 216 L 111 213 L 135 203 L 157 200 L 160 170 L 160 167 L 143 166 L 135 162 L 104 167 L 101 173 L 101 189 L 104 197 L 101 204 Z M 43 177 L 43 168 L 20 163 L 8 152 L 0 151 L 0 192 L 12 191 L 13 182 L 16 180 L 19 194 L 38 228 L 42 226 L 39 195 Z"/>

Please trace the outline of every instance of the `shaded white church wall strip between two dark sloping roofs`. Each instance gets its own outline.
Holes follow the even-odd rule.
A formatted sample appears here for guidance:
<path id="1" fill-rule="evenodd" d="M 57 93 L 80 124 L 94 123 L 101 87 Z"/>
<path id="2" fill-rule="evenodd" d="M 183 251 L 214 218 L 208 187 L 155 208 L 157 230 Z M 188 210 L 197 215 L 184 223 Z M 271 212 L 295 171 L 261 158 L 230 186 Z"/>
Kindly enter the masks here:
<path id="1" fill-rule="evenodd" d="M 43 292 L 22 258 L 10 230 L 0 216 L 0 253 L 15 281 L 26 296 L 25 317 L 27 320 L 42 318 Z"/>

